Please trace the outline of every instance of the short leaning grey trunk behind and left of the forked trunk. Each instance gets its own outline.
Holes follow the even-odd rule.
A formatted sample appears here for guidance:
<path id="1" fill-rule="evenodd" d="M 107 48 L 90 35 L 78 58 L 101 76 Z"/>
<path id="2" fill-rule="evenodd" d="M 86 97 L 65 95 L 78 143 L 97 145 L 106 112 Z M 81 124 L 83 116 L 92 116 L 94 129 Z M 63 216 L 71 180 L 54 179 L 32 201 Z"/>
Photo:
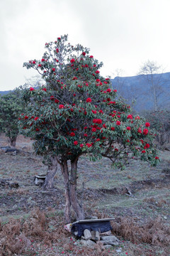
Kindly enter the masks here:
<path id="1" fill-rule="evenodd" d="M 45 177 L 45 183 L 42 185 L 42 188 L 50 189 L 54 188 L 54 178 L 57 172 L 57 159 L 55 157 L 51 157 L 51 163 L 48 166 L 47 175 Z"/>

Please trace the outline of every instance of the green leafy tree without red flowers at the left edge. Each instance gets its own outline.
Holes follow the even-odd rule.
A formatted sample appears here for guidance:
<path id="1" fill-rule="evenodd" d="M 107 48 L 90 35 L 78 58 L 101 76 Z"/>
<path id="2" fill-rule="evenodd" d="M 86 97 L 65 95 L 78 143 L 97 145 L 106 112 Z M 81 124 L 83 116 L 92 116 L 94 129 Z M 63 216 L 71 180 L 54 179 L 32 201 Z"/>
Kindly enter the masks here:
<path id="1" fill-rule="evenodd" d="M 21 114 L 20 90 L 14 90 L 0 97 L 0 130 L 5 132 L 11 146 L 16 146 L 18 117 Z"/>

